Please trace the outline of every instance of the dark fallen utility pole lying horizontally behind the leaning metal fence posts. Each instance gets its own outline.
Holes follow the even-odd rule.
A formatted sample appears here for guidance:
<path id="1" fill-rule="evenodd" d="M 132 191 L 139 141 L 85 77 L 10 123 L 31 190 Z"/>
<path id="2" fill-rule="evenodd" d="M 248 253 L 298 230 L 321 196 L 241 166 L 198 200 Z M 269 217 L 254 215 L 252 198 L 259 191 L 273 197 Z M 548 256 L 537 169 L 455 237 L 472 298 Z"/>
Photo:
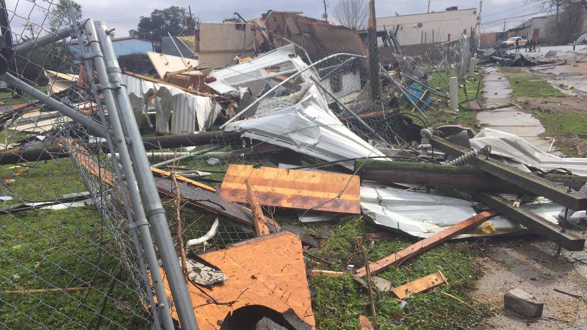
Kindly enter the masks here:
<path id="1" fill-rule="evenodd" d="M 145 150 L 168 149 L 187 146 L 205 146 L 212 143 L 224 143 L 239 137 L 238 132 L 203 132 L 197 134 L 181 134 L 167 136 L 144 137 Z M 106 142 L 87 143 L 87 148 L 102 147 L 105 153 L 109 152 Z M 51 160 L 69 157 L 69 153 L 62 146 L 50 146 L 43 149 L 25 151 L 5 151 L 0 153 L 0 165 L 18 164 L 25 161 Z"/>

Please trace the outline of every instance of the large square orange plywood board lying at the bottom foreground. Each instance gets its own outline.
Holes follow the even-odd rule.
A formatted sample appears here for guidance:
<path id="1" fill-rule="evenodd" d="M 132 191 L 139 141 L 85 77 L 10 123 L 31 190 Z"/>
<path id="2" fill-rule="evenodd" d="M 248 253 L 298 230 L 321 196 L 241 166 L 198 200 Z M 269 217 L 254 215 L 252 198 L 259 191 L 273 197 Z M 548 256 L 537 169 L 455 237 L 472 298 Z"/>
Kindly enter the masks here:
<path id="1" fill-rule="evenodd" d="M 220 329 L 219 320 L 247 305 L 264 305 L 278 312 L 291 308 L 302 321 L 315 328 L 302 243 L 296 235 L 288 232 L 265 235 L 200 257 L 220 268 L 228 278 L 211 289 L 188 283 L 200 330 Z M 163 270 L 161 274 L 171 298 Z M 210 297 L 221 304 L 215 304 Z M 173 307 L 171 316 L 177 319 Z"/>

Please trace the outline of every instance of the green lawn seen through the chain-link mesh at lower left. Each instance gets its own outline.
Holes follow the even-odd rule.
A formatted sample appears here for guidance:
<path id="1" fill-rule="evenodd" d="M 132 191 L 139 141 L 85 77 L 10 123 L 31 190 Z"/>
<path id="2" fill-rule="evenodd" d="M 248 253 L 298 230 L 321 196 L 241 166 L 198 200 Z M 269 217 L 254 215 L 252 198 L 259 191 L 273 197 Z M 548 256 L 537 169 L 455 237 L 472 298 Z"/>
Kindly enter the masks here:
<path id="1" fill-rule="evenodd" d="M 23 200 L 53 200 L 85 191 L 72 160 L 23 163 L 16 176 L 0 166 L 7 183 L 4 206 Z M 101 328 L 147 328 L 149 325 L 134 278 L 119 261 L 116 241 L 97 210 L 33 210 L 0 215 L 0 290 L 90 286 L 80 292 L 0 294 L 0 324 L 8 328 L 94 328 L 110 281 L 118 281 L 106 299 Z M 135 266 L 136 267 L 136 266 Z"/>

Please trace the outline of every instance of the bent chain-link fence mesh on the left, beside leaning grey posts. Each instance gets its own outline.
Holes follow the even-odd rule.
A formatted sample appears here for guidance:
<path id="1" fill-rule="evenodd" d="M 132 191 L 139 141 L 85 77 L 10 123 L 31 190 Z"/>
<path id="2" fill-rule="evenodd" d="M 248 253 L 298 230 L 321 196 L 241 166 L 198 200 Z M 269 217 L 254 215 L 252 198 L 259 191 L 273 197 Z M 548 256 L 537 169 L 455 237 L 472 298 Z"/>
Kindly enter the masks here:
<path id="1" fill-rule="evenodd" d="M 103 59 L 100 49 L 92 47 L 98 44 L 94 25 L 91 20 L 79 21 L 79 28 L 77 22 L 71 25 L 70 18 L 77 21 L 80 13 L 65 4 L 69 1 L 16 1 L 9 6 L 0 1 L 6 72 L 0 115 L 0 327 L 149 329 L 163 324 L 170 329 L 174 321 L 166 308 L 167 288 L 160 279 L 151 281 L 159 271 L 157 259 L 149 259 L 156 250 L 144 225 L 141 196 L 134 181 L 130 186 L 124 181 L 134 177 L 140 156 L 133 156 L 130 167 L 116 159 L 128 151 L 119 149 L 124 139 L 112 135 L 117 127 L 109 122 L 118 115 L 114 103 L 104 114 L 100 98 L 112 95 L 112 89 L 107 89 L 109 79 L 96 76 Z M 88 28 L 93 33 L 82 31 Z M 76 40 L 82 32 L 83 40 Z M 89 56 L 80 60 L 79 53 Z M 63 81 L 68 83 L 63 86 Z M 131 125 L 122 128 L 129 132 Z M 118 129 L 123 132 L 120 123 Z M 38 160 L 20 156 L 21 151 L 56 145 L 59 151 L 45 149 Z M 70 157 L 61 157 L 63 153 Z M 140 180 L 150 177 L 143 173 L 137 179 L 147 204 Z M 150 222 L 156 213 L 147 214 Z M 158 256 L 170 252 L 167 262 L 178 268 L 174 248 L 163 250 L 165 235 L 157 234 Z M 173 292 L 174 278 L 166 280 Z M 176 288 L 181 291 L 181 285 Z M 175 322 L 197 328 L 180 311 L 191 311 L 191 304 L 178 304 L 185 299 L 176 299 L 176 292 Z"/>

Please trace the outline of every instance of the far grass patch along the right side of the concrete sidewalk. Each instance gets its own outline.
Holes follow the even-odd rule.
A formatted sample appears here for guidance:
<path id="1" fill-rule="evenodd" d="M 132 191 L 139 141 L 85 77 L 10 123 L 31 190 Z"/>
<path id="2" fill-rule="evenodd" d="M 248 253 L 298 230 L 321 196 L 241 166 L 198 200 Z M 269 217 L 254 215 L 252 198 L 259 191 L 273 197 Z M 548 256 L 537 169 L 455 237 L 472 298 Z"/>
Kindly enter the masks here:
<path id="1" fill-rule="evenodd" d="M 500 66 L 499 70 L 504 73 L 505 78 L 510 80 L 512 97 L 567 96 L 552 87 L 546 80 L 538 78 L 524 69 Z"/>

